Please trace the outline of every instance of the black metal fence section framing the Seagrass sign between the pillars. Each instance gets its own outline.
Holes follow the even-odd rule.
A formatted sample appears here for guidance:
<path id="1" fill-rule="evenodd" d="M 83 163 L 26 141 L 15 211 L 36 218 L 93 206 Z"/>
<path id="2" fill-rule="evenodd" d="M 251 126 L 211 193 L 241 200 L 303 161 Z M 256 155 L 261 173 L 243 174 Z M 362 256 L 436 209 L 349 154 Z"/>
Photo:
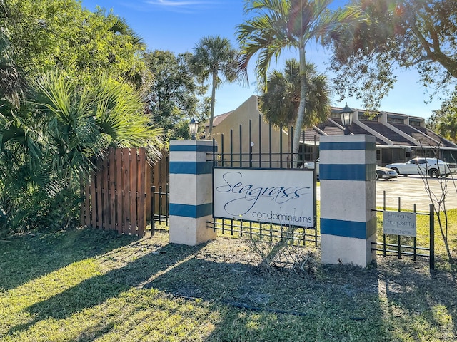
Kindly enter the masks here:
<path id="1" fill-rule="evenodd" d="M 256 125 L 257 126 L 257 125 Z M 248 128 L 239 125 L 236 132 L 230 130 L 229 137 L 224 134 L 218 136 L 218 147 L 214 139 L 214 149 L 212 161 L 214 168 L 243 168 L 243 169 L 273 169 L 288 170 L 301 167 L 303 160 L 310 160 L 316 157 L 315 151 L 308 150 L 302 143 L 305 141 L 305 132 L 301 133 L 301 145 L 298 148 L 298 155 L 293 155 L 293 128 L 289 128 L 286 133 L 282 125 L 273 128 L 271 124 L 267 127 L 267 132 L 263 132 L 261 115 L 258 118 L 258 127 L 254 128 L 252 120 L 249 121 Z M 248 143 L 246 143 L 248 142 Z M 308 158 L 308 159 L 306 159 Z M 316 175 L 313 177 L 316 180 Z M 316 184 L 313 183 L 314 198 L 316 198 Z M 318 246 L 320 236 L 316 227 L 316 201 L 314 201 L 314 227 L 288 227 L 281 224 L 271 224 L 266 222 L 250 222 L 243 219 L 226 219 L 213 217 L 212 221 L 207 222 L 207 227 L 218 232 L 219 236 L 225 237 L 256 237 L 259 239 L 287 239 L 289 243 L 312 244 Z"/>

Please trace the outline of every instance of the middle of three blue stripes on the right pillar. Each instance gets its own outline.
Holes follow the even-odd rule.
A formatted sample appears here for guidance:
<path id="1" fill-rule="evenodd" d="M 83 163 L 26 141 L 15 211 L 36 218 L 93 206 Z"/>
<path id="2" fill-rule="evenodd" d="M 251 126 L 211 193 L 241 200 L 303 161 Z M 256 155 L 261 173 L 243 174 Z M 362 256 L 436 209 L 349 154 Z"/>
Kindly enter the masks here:
<path id="1" fill-rule="evenodd" d="M 376 179 L 376 165 L 321 164 L 319 178 L 321 180 L 374 180 Z"/>

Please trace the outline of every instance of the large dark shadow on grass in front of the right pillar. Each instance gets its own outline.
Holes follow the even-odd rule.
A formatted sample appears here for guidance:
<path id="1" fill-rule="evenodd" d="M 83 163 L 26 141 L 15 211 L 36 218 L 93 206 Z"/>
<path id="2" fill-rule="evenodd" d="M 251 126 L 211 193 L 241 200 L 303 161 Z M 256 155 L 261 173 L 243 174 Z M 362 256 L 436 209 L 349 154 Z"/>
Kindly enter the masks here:
<path id="1" fill-rule="evenodd" d="M 145 287 L 229 306 L 205 341 L 392 341 L 373 329 L 383 326 L 377 279 L 353 266 L 322 267 L 314 279 L 194 258 Z"/>

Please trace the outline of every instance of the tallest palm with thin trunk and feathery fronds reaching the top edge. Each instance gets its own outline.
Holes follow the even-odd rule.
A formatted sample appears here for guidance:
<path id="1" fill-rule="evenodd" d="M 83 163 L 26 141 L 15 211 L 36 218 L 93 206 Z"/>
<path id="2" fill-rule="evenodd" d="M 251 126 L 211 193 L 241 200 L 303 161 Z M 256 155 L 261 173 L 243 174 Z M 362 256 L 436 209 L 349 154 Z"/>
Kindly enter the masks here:
<path id="1" fill-rule="evenodd" d="M 284 49 L 296 48 L 299 53 L 301 89 L 300 103 L 293 134 L 293 155 L 298 155 L 300 132 L 309 121 L 306 115 L 306 46 L 326 37 L 328 32 L 341 24 L 349 24 L 358 18 L 351 10 L 330 11 L 333 0 L 246 0 L 245 12 L 256 15 L 238 26 L 241 45 L 240 67 L 247 75 L 251 58 L 258 53 L 256 72 L 263 88 L 267 85 L 267 73 L 271 58 L 281 55 Z"/>

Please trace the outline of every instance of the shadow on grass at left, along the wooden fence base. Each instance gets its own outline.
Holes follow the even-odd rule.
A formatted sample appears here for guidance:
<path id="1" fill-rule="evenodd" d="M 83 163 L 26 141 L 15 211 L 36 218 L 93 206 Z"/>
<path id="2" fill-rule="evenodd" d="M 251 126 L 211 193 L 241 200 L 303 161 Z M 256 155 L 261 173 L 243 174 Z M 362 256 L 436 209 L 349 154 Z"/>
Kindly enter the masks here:
<path id="1" fill-rule="evenodd" d="M 91 228 L 26 234 L 0 242 L 0 289 L 21 284 L 138 240 Z"/>

